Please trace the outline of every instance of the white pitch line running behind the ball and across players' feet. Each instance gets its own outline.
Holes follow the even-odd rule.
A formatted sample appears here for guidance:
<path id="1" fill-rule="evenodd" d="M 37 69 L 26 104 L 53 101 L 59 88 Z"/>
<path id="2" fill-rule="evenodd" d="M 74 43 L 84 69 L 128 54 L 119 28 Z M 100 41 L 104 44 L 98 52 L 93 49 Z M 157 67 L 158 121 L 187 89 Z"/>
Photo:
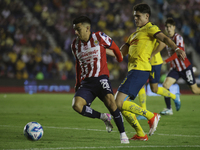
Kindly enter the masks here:
<path id="1" fill-rule="evenodd" d="M 10 126 L 10 125 L 0 125 L 0 127 L 20 127 L 20 126 Z M 87 128 L 70 128 L 70 127 L 51 127 L 51 126 L 43 126 L 43 128 L 49 128 L 49 129 L 66 129 L 66 130 L 87 130 L 87 131 L 98 131 L 98 132 L 105 132 L 105 130 L 100 129 L 87 129 Z M 112 131 L 112 132 L 118 132 L 118 131 Z M 128 132 L 128 133 L 136 133 L 136 132 Z M 179 137 L 196 137 L 200 138 L 199 135 L 182 135 L 182 134 L 162 134 L 162 133 L 154 133 L 154 135 L 160 135 L 160 136 L 179 136 Z"/>

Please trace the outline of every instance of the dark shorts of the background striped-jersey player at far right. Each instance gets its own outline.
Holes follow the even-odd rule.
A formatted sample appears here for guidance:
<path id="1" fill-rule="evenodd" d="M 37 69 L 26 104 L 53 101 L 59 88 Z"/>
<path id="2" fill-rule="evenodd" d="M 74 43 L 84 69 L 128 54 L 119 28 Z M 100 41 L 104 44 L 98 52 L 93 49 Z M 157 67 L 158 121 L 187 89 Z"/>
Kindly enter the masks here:
<path id="1" fill-rule="evenodd" d="M 167 77 L 174 78 L 176 79 L 176 81 L 179 78 L 183 78 L 187 82 L 188 85 L 193 85 L 196 83 L 194 73 L 192 70 L 192 65 L 188 66 L 185 70 L 180 71 L 180 72 L 173 68 L 172 70 L 170 70 Z"/>

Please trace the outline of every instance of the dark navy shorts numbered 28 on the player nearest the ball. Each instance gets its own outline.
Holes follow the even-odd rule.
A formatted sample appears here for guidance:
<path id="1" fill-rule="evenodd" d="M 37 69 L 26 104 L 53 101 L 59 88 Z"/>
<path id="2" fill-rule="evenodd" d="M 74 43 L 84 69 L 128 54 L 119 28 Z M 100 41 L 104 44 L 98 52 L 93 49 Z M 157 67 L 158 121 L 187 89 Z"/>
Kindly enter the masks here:
<path id="1" fill-rule="evenodd" d="M 90 106 L 96 97 L 103 100 L 107 94 L 113 94 L 112 87 L 107 75 L 101 75 L 99 77 L 86 78 L 81 81 L 81 85 L 78 88 L 75 96 L 80 96 Z"/>

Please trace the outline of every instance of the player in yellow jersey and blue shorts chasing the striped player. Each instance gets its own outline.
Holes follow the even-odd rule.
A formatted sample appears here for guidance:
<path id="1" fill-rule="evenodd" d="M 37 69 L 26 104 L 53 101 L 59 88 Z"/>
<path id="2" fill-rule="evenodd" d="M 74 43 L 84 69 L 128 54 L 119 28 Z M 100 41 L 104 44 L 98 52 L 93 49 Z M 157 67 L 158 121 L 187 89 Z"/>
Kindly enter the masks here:
<path id="1" fill-rule="evenodd" d="M 138 28 L 120 48 L 123 56 L 128 55 L 128 75 L 119 86 L 115 100 L 123 116 L 137 132 L 131 139 L 146 141 L 148 140 L 147 134 L 144 133 L 135 114 L 148 119 L 150 136 L 157 128 L 160 115 L 143 109 L 129 100 L 135 99 L 139 90 L 149 78 L 151 71 L 149 60 L 154 45 L 158 39 L 174 49 L 180 58 L 184 59 L 186 54 L 170 38 L 164 35 L 156 25 L 149 22 L 151 10 L 147 4 L 136 5 L 133 15 Z"/>

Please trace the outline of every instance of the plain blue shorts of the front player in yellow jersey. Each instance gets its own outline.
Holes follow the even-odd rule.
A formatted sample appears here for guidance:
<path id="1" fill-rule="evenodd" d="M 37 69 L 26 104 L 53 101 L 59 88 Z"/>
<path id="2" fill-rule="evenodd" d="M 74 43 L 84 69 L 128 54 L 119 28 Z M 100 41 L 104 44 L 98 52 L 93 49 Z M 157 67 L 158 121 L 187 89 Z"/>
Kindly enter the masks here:
<path id="1" fill-rule="evenodd" d="M 137 96 L 142 86 L 149 78 L 149 71 L 131 70 L 121 83 L 118 91 L 127 94 L 133 100 Z"/>

